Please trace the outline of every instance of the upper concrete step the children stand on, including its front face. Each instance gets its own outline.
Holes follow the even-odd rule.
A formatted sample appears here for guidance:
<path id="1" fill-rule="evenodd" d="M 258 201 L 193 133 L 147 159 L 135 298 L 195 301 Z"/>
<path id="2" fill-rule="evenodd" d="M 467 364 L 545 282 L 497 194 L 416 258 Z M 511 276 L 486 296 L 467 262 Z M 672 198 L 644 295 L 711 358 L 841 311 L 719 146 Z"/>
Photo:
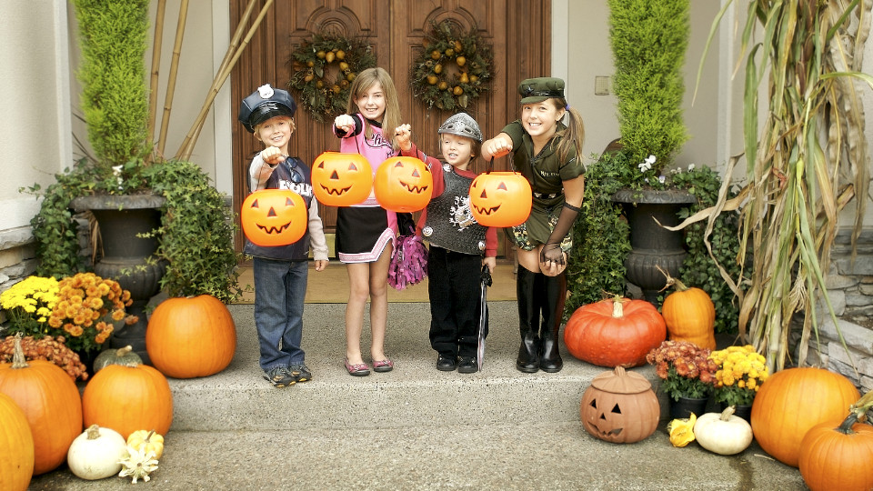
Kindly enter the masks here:
<path id="1" fill-rule="evenodd" d="M 234 361 L 215 376 L 170 379 L 173 430 L 294 429 L 300 421 L 334 429 L 577 422 L 582 393 L 605 370 L 564 351 L 565 367 L 557 374 L 518 372 L 516 304 L 492 302 L 483 370 L 440 372 L 427 336 L 429 306 L 389 304 L 386 353 L 396 367 L 353 377 L 343 366 L 345 306 L 307 304 L 303 347 L 313 380 L 276 388 L 257 365 L 254 307 L 229 308 L 238 334 Z M 364 330 L 368 353 L 368 325 Z M 650 367 L 637 370 L 654 382 Z"/>

